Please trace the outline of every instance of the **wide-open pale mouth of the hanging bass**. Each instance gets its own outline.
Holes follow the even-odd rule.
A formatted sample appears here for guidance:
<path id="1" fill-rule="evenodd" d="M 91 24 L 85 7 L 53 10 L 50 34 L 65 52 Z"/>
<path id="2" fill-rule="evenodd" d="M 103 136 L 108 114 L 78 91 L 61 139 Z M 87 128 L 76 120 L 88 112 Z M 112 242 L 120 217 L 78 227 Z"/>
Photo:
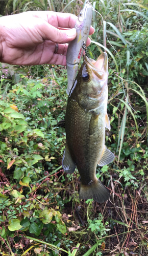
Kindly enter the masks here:
<path id="1" fill-rule="evenodd" d="M 103 78 L 105 75 L 108 75 L 108 56 L 107 53 L 102 53 L 97 60 L 90 59 L 87 56 L 85 57 L 88 66 L 93 70 L 93 72 Z"/>

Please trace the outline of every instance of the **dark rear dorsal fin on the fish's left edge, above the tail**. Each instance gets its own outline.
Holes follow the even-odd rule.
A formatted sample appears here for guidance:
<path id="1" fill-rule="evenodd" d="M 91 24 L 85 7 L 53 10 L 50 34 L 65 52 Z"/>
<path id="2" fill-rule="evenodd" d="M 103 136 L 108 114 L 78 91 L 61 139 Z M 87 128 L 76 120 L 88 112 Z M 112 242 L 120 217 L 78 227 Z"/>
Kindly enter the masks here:
<path id="1" fill-rule="evenodd" d="M 73 160 L 71 158 L 67 144 L 65 146 L 65 152 L 63 155 L 62 167 L 63 167 L 64 172 L 69 173 L 69 174 L 72 174 L 76 168 L 76 164 L 73 162 Z"/>

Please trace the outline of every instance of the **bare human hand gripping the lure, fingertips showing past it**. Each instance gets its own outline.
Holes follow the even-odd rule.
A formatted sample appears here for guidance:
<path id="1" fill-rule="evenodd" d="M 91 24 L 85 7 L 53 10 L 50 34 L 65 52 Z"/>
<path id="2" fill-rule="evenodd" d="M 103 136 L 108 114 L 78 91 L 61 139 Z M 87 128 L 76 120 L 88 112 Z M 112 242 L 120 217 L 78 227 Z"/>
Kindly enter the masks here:
<path id="1" fill-rule="evenodd" d="M 76 37 L 77 16 L 30 11 L 0 18 L 0 61 L 13 65 L 51 63 L 66 66 L 67 42 Z M 68 28 L 61 30 L 58 28 Z M 93 27 L 89 34 L 93 34 Z M 58 43 L 58 52 L 56 50 Z M 90 38 L 86 45 L 90 44 Z"/>

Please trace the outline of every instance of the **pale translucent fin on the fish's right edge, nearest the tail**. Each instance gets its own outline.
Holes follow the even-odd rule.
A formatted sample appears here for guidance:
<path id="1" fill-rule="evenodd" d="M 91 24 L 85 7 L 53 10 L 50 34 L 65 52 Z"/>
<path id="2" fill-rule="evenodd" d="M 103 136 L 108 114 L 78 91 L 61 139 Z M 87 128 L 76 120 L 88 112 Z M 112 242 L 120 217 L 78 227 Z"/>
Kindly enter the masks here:
<path id="1" fill-rule="evenodd" d="M 111 163 L 114 160 L 114 157 L 114 154 L 110 150 L 108 150 L 106 146 L 104 146 L 102 157 L 97 164 L 100 166 L 104 166 L 108 163 Z"/>

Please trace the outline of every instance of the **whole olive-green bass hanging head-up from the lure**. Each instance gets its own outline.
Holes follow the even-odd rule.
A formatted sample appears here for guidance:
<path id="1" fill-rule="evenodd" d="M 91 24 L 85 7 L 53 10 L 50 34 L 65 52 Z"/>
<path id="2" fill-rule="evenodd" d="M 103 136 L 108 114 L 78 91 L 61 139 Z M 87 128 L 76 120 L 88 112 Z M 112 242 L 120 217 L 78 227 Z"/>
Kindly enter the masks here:
<path id="1" fill-rule="evenodd" d="M 97 164 L 109 164 L 114 154 L 105 146 L 105 128 L 110 130 L 107 114 L 108 56 L 97 60 L 84 55 L 84 61 L 67 100 L 65 131 L 66 146 L 62 167 L 81 176 L 80 199 L 103 203 L 110 197 L 108 188 L 96 178 Z"/>

